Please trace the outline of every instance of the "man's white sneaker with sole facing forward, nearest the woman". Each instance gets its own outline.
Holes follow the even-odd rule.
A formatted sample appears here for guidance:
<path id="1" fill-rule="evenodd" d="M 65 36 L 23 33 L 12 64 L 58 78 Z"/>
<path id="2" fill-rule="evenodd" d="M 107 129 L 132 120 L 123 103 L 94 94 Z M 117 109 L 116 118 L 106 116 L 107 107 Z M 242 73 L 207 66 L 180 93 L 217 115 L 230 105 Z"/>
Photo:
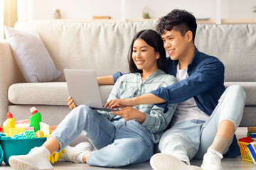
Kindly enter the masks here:
<path id="1" fill-rule="evenodd" d="M 170 154 L 154 154 L 150 159 L 154 170 L 200 170 L 198 166 L 188 165 Z"/>

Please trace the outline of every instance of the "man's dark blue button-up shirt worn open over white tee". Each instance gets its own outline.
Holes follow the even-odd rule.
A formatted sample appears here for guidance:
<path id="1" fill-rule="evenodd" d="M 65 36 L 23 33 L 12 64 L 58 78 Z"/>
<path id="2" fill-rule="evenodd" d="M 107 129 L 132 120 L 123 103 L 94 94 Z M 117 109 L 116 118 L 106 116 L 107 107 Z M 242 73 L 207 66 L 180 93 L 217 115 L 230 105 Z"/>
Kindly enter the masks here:
<path id="1" fill-rule="evenodd" d="M 167 57 L 167 73 L 176 77 L 178 60 L 171 60 Z M 198 108 L 207 115 L 211 115 L 218 104 L 218 99 L 225 91 L 224 86 L 225 67 L 218 58 L 199 52 L 195 48 L 195 53 L 190 64 L 188 64 L 188 78 L 172 84 L 166 88 L 160 87 L 151 94 L 163 98 L 166 103 L 159 103 L 156 106 L 168 110 L 168 103 L 181 103 L 193 97 Z M 114 81 L 120 76 L 121 72 L 113 74 Z M 240 150 L 237 139 L 234 137 L 230 145 L 228 157 L 237 157 Z"/>

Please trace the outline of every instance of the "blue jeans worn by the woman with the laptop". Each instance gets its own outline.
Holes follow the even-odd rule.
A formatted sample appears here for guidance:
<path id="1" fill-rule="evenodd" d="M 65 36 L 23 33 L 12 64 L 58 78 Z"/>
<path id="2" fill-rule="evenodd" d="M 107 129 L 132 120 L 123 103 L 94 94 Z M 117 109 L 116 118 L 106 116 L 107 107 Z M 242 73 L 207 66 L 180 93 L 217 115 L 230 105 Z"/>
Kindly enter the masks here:
<path id="1" fill-rule="evenodd" d="M 154 154 L 154 142 L 148 130 L 136 120 L 110 122 L 87 106 L 73 109 L 58 125 L 51 137 L 60 149 L 69 145 L 85 130 L 85 136 L 97 149 L 87 157 L 92 166 L 124 166 L 146 162 Z"/>

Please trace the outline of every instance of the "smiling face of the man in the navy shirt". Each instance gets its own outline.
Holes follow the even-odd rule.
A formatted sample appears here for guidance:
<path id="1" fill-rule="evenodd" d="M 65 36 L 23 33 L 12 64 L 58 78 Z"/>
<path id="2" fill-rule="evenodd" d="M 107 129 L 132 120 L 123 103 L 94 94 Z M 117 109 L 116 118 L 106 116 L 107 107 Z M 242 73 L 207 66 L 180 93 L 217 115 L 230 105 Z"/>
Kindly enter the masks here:
<path id="1" fill-rule="evenodd" d="M 187 33 L 182 36 L 181 33 L 176 30 L 166 30 L 165 33 L 161 35 L 164 41 L 164 48 L 171 57 L 171 60 L 185 59 L 189 42 Z"/>

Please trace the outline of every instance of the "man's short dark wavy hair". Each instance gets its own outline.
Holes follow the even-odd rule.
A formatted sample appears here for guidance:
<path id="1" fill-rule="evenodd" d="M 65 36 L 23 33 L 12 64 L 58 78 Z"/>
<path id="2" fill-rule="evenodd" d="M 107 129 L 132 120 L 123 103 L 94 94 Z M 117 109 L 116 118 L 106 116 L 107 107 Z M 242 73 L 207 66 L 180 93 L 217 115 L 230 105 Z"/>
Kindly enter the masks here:
<path id="1" fill-rule="evenodd" d="M 163 35 L 166 31 L 176 30 L 183 36 L 188 30 L 191 30 L 194 42 L 196 27 L 196 18 L 192 13 L 185 10 L 174 9 L 166 16 L 159 18 L 159 24 L 156 26 L 156 31 L 159 35 Z"/>

